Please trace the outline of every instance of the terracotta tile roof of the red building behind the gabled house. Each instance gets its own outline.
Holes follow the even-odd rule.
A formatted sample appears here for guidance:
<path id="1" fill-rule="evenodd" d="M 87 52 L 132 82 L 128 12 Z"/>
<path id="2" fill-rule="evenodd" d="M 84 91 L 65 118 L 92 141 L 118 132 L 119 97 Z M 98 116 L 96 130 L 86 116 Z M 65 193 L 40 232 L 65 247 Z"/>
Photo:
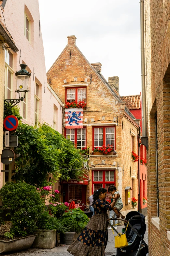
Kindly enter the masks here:
<path id="1" fill-rule="evenodd" d="M 120 96 L 128 109 L 140 109 L 141 95 Z"/>

